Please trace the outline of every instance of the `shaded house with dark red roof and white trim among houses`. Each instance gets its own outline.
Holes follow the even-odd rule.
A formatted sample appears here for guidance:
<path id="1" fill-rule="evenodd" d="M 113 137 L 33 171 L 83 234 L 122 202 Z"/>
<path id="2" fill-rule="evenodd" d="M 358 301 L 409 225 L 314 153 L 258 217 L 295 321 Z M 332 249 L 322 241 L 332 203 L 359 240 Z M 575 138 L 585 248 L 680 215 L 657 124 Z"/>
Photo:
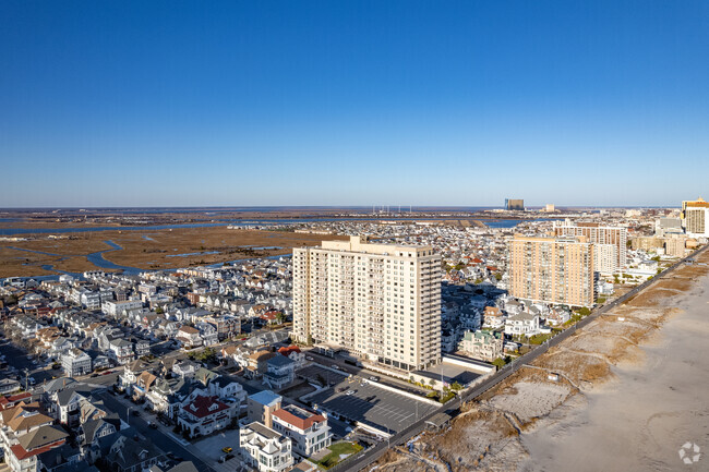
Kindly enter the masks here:
<path id="1" fill-rule="evenodd" d="M 178 425 L 190 437 L 206 436 L 231 424 L 233 406 L 220 401 L 217 396 L 196 395 L 182 404 Z"/>

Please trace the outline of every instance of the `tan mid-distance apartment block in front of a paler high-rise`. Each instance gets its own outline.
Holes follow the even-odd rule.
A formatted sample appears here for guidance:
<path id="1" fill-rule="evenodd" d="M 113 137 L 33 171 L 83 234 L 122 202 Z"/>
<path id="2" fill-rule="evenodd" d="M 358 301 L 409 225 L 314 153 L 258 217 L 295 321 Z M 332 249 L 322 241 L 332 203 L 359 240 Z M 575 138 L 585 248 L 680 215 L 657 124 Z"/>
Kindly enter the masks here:
<path id="1" fill-rule="evenodd" d="M 593 244 L 581 238 L 515 235 L 509 247 L 510 293 L 534 302 L 592 306 Z"/>

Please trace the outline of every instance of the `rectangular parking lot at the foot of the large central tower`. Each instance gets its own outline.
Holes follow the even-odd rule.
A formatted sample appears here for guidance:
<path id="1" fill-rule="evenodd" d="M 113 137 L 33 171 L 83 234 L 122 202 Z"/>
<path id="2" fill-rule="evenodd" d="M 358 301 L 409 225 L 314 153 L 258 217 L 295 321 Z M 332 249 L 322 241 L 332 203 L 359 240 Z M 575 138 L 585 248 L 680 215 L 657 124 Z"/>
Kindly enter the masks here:
<path id="1" fill-rule="evenodd" d="M 344 378 L 312 397 L 319 409 L 357 421 L 381 432 L 396 433 L 437 407 L 401 394 L 385 390 L 362 377 Z"/>

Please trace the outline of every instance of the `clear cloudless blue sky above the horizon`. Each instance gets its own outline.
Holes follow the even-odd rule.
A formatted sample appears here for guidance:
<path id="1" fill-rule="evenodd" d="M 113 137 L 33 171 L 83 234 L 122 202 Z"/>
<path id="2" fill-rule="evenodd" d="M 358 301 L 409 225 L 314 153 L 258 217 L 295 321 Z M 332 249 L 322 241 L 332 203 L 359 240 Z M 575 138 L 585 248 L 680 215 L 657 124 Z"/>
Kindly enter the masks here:
<path id="1" fill-rule="evenodd" d="M 709 198 L 709 2 L 0 2 L 0 207 Z"/>

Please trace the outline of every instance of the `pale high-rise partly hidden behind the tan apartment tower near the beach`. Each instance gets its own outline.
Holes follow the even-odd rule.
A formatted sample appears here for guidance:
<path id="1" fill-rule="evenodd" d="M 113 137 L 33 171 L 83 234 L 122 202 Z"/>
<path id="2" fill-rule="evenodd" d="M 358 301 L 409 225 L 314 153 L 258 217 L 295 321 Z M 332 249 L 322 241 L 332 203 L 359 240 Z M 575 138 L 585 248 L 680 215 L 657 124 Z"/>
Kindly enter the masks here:
<path id="1" fill-rule="evenodd" d="M 596 261 L 597 270 L 603 274 L 622 270 L 627 264 L 628 230 L 624 227 L 601 226 L 597 222 L 577 222 L 570 220 L 554 222 L 554 234 L 557 237 L 585 237 L 593 244 L 613 244 L 615 246 L 615 268 L 612 265 Z M 598 255 L 608 259 L 609 250 L 603 249 Z"/>

